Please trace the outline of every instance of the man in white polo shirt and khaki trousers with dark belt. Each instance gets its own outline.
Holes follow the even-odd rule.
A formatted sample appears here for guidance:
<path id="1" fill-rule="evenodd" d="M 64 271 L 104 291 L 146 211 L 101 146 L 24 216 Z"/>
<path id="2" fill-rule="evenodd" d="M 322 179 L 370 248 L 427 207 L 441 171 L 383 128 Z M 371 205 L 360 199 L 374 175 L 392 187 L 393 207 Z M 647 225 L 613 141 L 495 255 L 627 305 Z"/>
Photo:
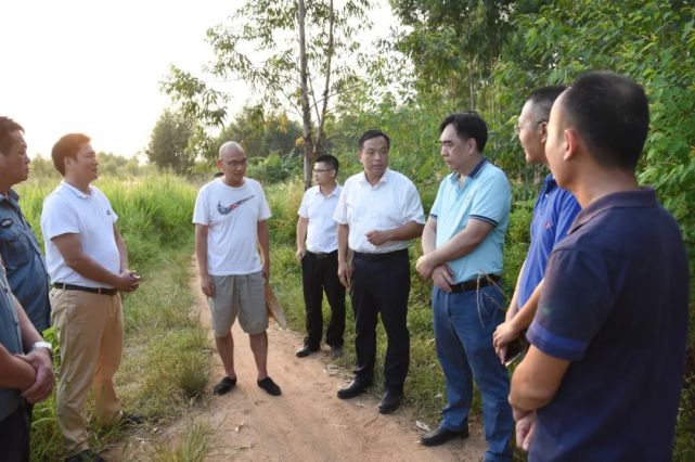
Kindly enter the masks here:
<path id="1" fill-rule="evenodd" d="M 128 252 L 111 203 L 90 185 L 99 175 L 90 139 L 66 134 L 51 156 L 63 181 L 43 202 L 41 231 L 61 347 L 57 422 L 67 461 L 101 461 L 89 449 L 81 413 L 91 385 L 100 424 L 142 421 L 123 413 L 113 381 L 123 350 L 118 292 L 136 291 L 140 278 L 128 270 Z"/>

